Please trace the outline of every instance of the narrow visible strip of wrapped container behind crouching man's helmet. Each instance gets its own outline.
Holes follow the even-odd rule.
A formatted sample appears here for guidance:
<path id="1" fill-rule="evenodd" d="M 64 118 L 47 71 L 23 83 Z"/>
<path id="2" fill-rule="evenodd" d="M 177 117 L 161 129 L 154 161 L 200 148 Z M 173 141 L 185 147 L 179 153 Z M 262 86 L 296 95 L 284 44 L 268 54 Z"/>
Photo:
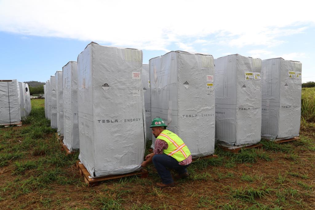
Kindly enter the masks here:
<path id="1" fill-rule="evenodd" d="M 151 126 L 151 98 L 150 98 L 150 78 L 149 78 L 149 65 L 142 64 L 141 81 L 144 95 L 144 108 L 146 111 L 146 138 L 152 140 Z"/>

